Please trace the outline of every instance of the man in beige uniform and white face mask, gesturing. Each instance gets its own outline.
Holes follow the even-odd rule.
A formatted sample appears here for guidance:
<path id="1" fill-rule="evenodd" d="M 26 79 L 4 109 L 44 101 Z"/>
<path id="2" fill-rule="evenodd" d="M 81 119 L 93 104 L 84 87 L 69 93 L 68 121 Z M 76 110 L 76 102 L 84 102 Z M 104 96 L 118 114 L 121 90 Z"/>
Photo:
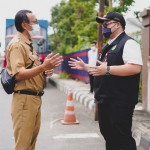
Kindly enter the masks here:
<path id="1" fill-rule="evenodd" d="M 40 64 L 31 40 L 39 26 L 31 11 L 19 11 L 15 26 L 18 33 L 6 50 L 7 70 L 17 80 L 11 104 L 15 150 L 34 150 L 41 122 L 43 73 L 52 75 L 52 69 L 63 60 L 59 54 L 49 54 Z"/>

